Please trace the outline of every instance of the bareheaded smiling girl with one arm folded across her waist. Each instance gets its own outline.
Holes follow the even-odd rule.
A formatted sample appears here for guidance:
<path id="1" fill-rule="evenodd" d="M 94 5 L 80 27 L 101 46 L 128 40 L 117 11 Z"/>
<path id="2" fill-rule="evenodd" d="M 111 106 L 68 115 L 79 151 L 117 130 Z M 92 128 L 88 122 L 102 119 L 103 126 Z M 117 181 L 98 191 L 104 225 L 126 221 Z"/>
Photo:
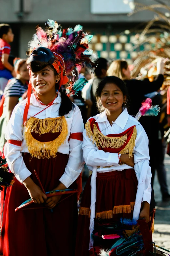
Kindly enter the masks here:
<path id="1" fill-rule="evenodd" d="M 106 225 L 121 217 L 145 218 L 149 222 L 148 138 L 140 123 L 128 114 L 127 96 L 126 86 L 120 78 L 105 77 L 96 91 L 101 113 L 91 117 L 85 125 L 83 156 L 92 176 L 84 188 L 79 209 L 76 256 L 89 254 L 89 241 L 90 255 L 98 255 L 103 247 L 100 239 L 94 245 L 90 239 L 92 232 L 97 235 L 98 231 L 95 231 L 94 218 L 106 221 Z M 143 172 L 144 164 L 148 168 Z"/>

